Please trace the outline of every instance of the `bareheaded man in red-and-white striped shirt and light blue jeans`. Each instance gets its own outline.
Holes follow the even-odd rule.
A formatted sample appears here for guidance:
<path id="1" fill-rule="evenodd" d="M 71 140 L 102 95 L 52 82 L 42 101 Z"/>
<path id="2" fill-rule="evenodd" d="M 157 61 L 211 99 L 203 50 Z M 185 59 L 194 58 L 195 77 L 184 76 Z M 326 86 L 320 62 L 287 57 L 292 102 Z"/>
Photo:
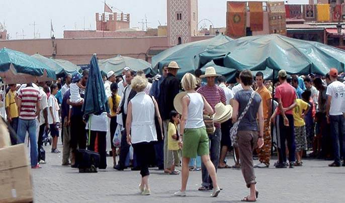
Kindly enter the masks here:
<path id="1" fill-rule="evenodd" d="M 38 150 L 36 139 L 36 117 L 40 115 L 41 96 L 40 91 L 28 83 L 18 94 L 18 137 L 19 143 L 24 143 L 26 132 L 30 138 L 31 168 L 40 168 L 38 164 Z"/>

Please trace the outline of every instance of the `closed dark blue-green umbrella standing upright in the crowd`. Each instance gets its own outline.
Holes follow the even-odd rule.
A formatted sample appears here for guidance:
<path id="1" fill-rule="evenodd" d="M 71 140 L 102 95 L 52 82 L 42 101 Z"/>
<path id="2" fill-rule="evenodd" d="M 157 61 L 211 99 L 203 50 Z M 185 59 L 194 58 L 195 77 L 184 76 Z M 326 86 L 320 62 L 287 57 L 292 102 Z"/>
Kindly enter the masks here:
<path id="1" fill-rule="evenodd" d="M 89 79 L 85 89 L 82 111 L 84 117 L 87 117 L 90 114 L 99 115 L 106 112 L 108 108 L 101 71 L 98 67 L 96 54 L 94 54 L 90 61 Z"/>

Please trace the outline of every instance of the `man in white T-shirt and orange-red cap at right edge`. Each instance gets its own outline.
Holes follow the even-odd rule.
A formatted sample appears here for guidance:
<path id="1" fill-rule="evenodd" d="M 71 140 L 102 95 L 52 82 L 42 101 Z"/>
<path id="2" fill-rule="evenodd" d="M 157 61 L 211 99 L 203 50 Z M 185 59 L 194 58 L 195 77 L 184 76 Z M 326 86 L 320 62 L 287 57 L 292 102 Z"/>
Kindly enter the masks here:
<path id="1" fill-rule="evenodd" d="M 345 154 L 345 146 L 340 144 L 345 139 L 345 118 L 343 105 L 345 100 L 345 85 L 337 81 L 338 71 L 335 68 L 329 70 L 330 84 L 327 87 L 327 122 L 330 123 L 331 138 L 333 143 L 334 162 L 328 166 L 340 166 L 340 156 Z M 342 147 L 341 147 L 342 146 Z M 345 166 L 345 163 L 342 164 Z"/>

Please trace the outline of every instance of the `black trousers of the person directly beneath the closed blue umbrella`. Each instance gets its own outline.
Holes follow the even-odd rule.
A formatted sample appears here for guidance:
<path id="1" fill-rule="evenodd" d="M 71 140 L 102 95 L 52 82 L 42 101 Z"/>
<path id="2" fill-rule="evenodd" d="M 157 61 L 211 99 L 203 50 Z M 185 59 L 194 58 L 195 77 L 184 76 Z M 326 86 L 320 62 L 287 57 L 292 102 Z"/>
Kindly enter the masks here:
<path id="1" fill-rule="evenodd" d="M 91 151 L 95 150 L 95 143 L 97 138 L 97 152 L 100 154 L 100 169 L 107 168 L 107 132 L 102 131 L 93 131 L 91 130 L 90 134 L 90 145 L 88 149 Z"/>

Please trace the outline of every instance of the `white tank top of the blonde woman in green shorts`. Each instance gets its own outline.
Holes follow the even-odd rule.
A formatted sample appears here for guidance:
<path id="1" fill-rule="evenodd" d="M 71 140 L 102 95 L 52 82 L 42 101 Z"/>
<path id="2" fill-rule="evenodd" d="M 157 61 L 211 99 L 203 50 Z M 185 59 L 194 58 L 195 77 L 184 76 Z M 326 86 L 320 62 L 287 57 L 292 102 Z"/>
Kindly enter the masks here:
<path id="1" fill-rule="evenodd" d="M 185 128 L 201 128 L 205 126 L 203 119 L 204 100 L 199 93 L 187 93 L 190 98 L 188 117 Z"/>

